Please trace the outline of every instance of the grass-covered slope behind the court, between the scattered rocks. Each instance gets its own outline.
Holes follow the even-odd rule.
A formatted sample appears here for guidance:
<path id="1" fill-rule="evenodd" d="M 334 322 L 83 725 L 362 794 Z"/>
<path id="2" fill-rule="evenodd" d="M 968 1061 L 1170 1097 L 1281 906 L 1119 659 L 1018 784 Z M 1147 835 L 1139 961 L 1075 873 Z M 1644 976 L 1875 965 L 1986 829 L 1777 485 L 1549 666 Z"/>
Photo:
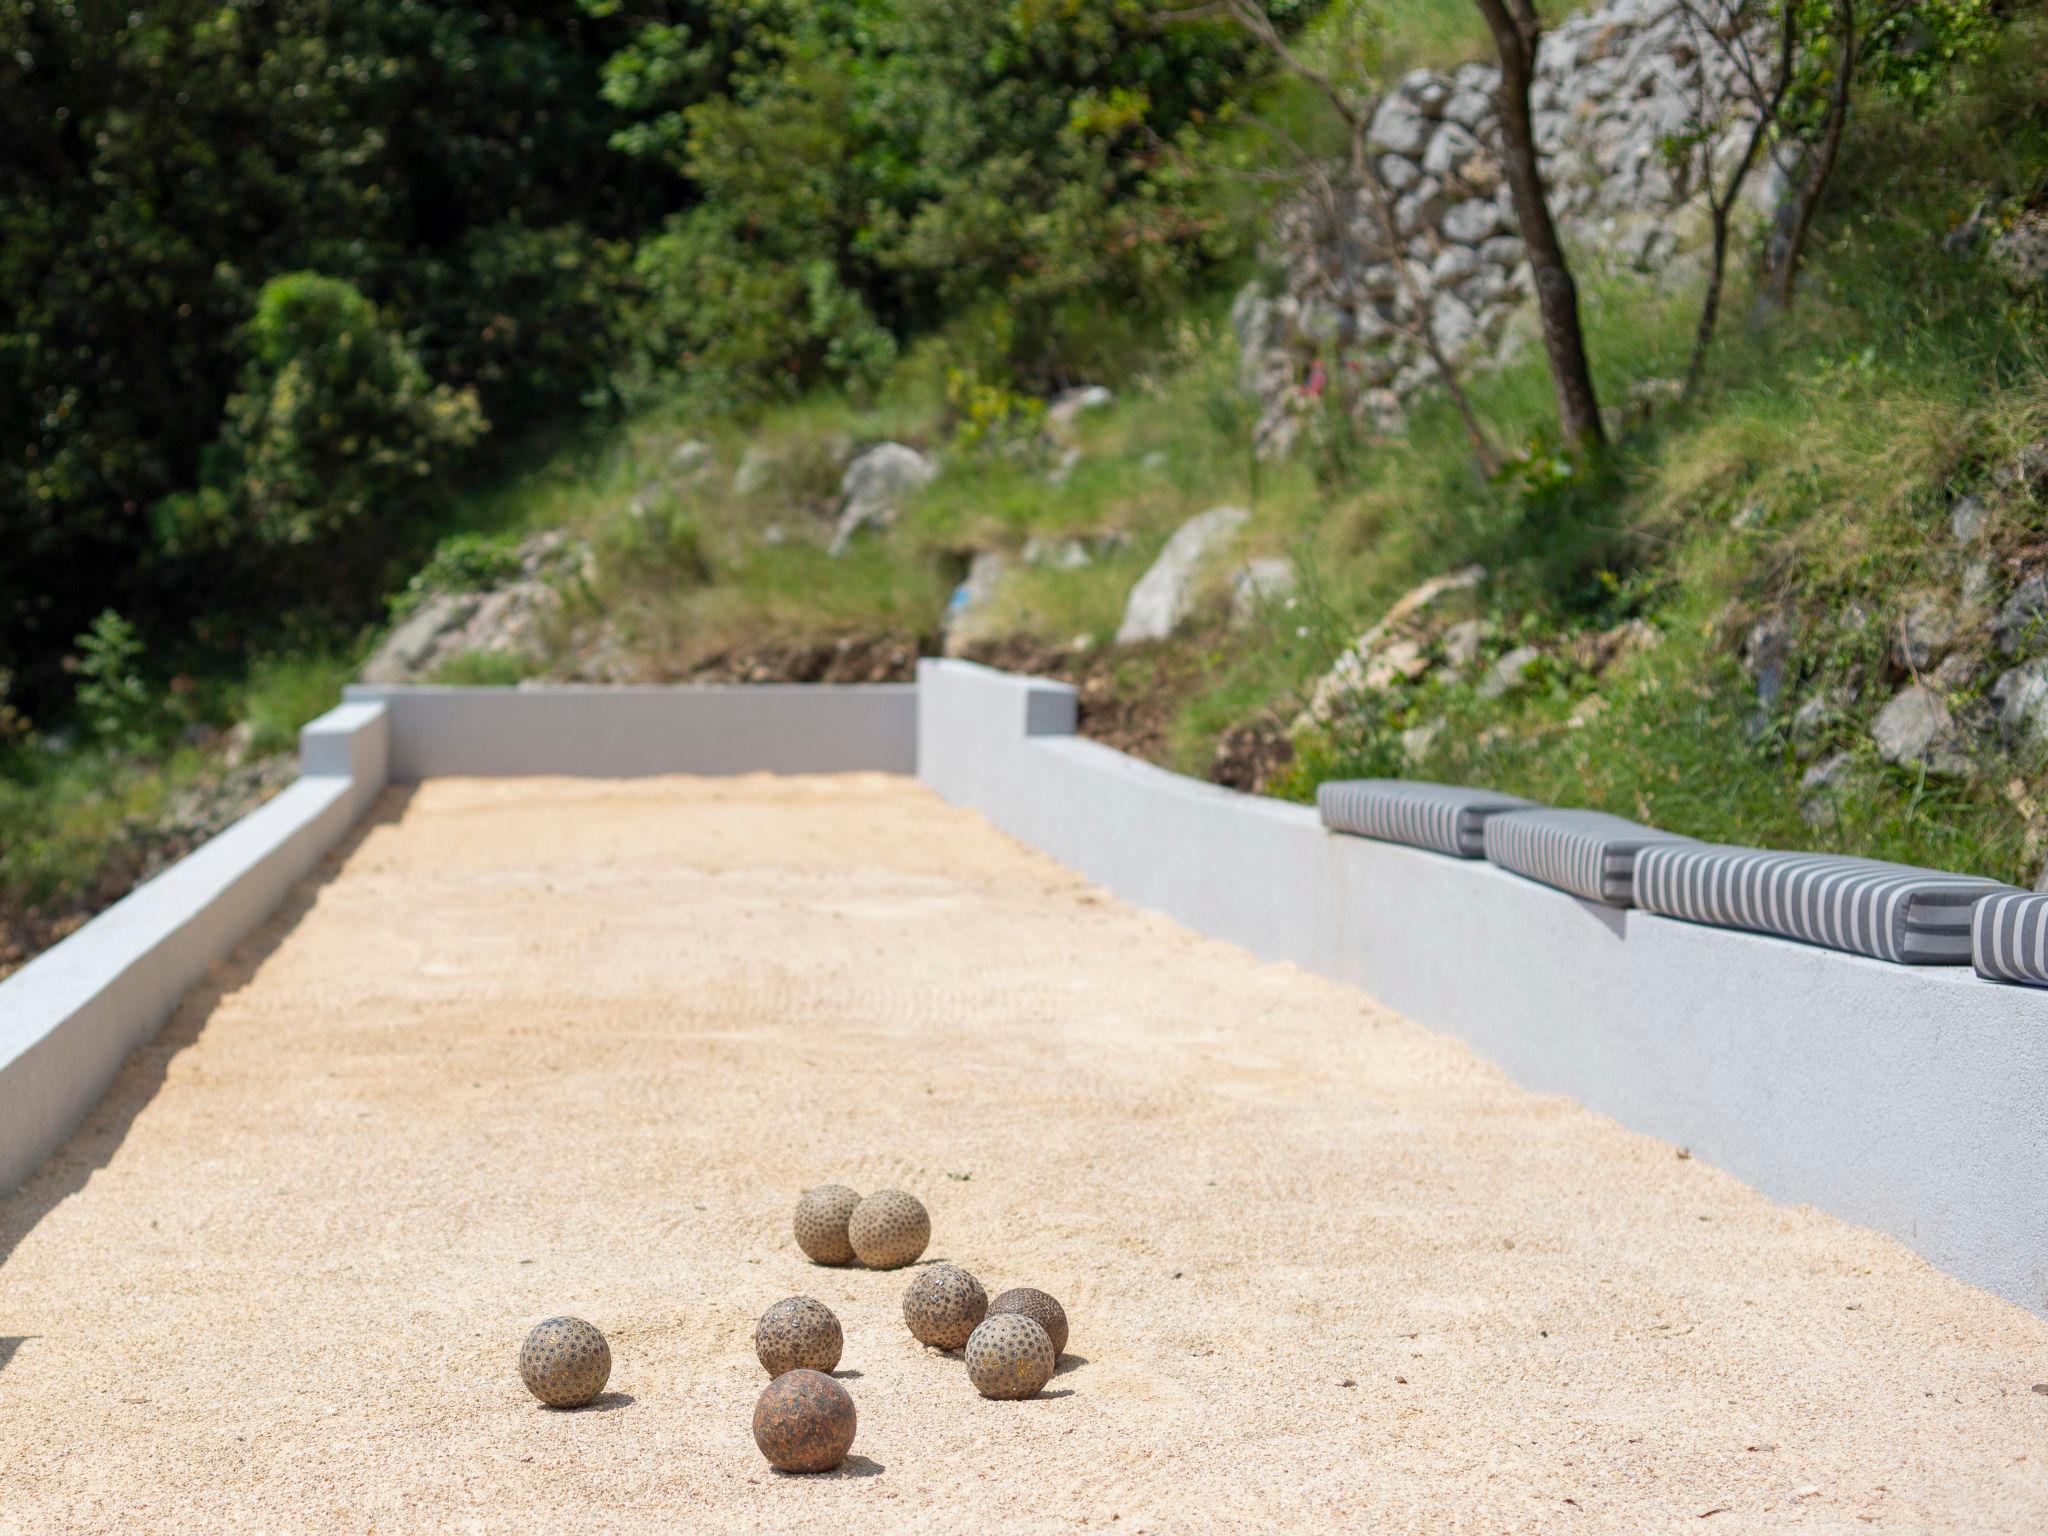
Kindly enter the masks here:
<path id="1" fill-rule="evenodd" d="M 1378 39 L 1389 68 L 1446 66 L 1483 51 L 1464 0 L 1399 0 Z M 1339 18 L 1341 20 L 1341 18 Z M 1317 47 L 1343 45 L 1325 27 Z M 608 674 L 688 676 L 731 647 L 893 635 L 932 645 L 946 594 L 973 549 L 1018 549 L 1030 535 L 1106 535 L 1124 543 L 1081 571 L 1024 569 L 1004 588 L 1001 631 L 1075 647 L 1104 686 L 1159 692 L 1171 715 L 1161 756 L 1206 772 L 1219 737 L 1245 721 L 1286 721 L 1350 639 L 1417 580 L 1470 559 L 1493 582 L 1481 596 L 1487 649 L 1561 637 L 1618 618 L 1651 618 L 1665 641 L 1597 682 L 1546 662 L 1540 686 L 1485 702 L 1468 686 L 1395 690 L 1303 756 L 1274 788 L 1307 795 L 1319 776 L 1399 770 L 1485 780 L 1559 803 L 1599 805 L 1675 829 L 1780 846 L 1829 846 L 2032 879 L 2040 858 L 2028 782 L 2038 764 L 1993 764 L 1972 782 L 1927 780 L 1876 760 L 1868 719 L 1896 678 L 1874 678 L 1819 741 L 1792 741 L 1790 711 L 1855 666 L 1882 674 L 1882 623 L 1917 594 L 1948 600 L 1958 557 L 1946 539 L 1954 494 L 1985 489 L 1991 465 L 2048 432 L 2042 313 L 2017 307 L 1980 266 L 1954 260 L 1942 236 L 1980 199 L 2040 203 L 2048 125 L 2032 82 L 2048 68 L 2040 23 L 2015 31 L 1995 78 L 1933 123 L 1870 109 L 1858 119 L 1819 231 L 1800 309 L 1763 334 L 1726 324 L 1710 387 L 1683 410 L 1630 434 L 1612 475 L 1563 498 L 1479 483 L 1456 424 L 1425 408 L 1401 440 L 1362 442 L 1335 430 L 1284 465 L 1251 455 L 1251 412 L 1235 389 L 1235 356 L 1212 295 L 1133 352 L 1118 399 L 1077 428 L 1085 459 L 1067 485 L 1044 457 L 958 440 L 942 348 L 913 352 L 879 401 L 815 397 L 748 420 L 649 414 L 584 440 L 535 473 L 473 496 L 467 537 L 514 541 L 567 526 L 596 551 L 567 594 L 559 655 L 573 670 L 594 649 Z M 1290 90 L 1264 104 L 1313 139 Z M 1249 129 L 1225 141 L 1241 160 L 1268 154 Z M 1241 217 L 1255 217 L 1241 193 Z M 1587 315 L 1610 401 L 1636 379 L 1679 371 L 1688 295 L 1640 279 L 1593 276 Z M 1540 358 L 1475 381 L 1503 442 L 1550 420 Z M 674 483 L 672 449 L 711 438 L 721 477 Z M 848 559 L 823 553 L 838 455 L 895 438 L 938 451 L 946 473 L 887 535 Z M 729 475 L 758 451 L 762 485 L 731 496 Z M 1221 623 L 1219 561 L 1210 612 L 1163 653 L 1120 657 L 1106 641 L 1124 594 L 1163 537 L 1221 502 L 1253 508 L 1243 553 L 1286 553 L 1303 569 L 1294 604 L 1249 633 Z M 1741 514 L 1741 516 L 1739 516 Z M 2001 582 L 2044 539 L 2042 508 L 2005 498 L 1995 524 Z M 770 528 L 778 539 L 764 537 Z M 461 565 L 461 561 L 455 561 Z M 1843 610 L 1880 623 L 1841 633 Z M 1739 637 L 1765 610 L 1800 623 L 1796 686 L 1755 733 Z M 1833 629 L 1831 629 L 1833 625 Z M 266 659 L 215 713 L 252 721 L 258 750 L 283 750 L 338 690 L 360 649 Z M 471 659 L 459 682 L 510 682 L 532 666 Z M 1987 670 L 1968 694 L 1995 676 Z M 1567 719 L 1597 688 L 1606 709 Z M 1581 711 L 1583 713 L 1583 711 Z M 1397 750 L 1403 727 L 1444 719 L 1419 762 Z M 1841 819 L 1806 827 L 1798 778 L 1823 752 L 1849 752 Z M 147 819 L 180 786 L 213 770 L 207 754 L 125 760 L 94 752 L 18 752 L 0 776 L 0 905 L 63 903 L 92 885 L 121 827 Z M 2017 793 L 2013 788 L 2017 780 Z"/>

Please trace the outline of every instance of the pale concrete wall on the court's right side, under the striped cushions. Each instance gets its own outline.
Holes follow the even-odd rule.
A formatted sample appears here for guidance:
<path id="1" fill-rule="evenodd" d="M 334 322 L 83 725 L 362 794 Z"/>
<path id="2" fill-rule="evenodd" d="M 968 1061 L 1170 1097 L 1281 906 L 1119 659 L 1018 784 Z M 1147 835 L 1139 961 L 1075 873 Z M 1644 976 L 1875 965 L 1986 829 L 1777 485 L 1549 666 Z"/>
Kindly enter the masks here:
<path id="1" fill-rule="evenodd" d="M 2048 1313 L 2048 993 L 1331 834 L 1061 735 L 1061 684 L 926 662 L 920 688 L 918 774 L 1116 895 Z"/>

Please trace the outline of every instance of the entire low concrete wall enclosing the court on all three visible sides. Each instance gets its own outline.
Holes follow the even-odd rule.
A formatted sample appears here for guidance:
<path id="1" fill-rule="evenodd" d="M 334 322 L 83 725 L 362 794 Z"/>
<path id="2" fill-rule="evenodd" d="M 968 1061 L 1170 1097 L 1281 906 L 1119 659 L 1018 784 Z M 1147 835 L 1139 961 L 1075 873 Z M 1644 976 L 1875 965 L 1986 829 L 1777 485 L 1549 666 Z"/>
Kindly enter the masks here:
<path id="1" fill-rule="evenodd" d="M 1616 911 L 1073 735 L 1061 684 L 350 688 L 305 776 L 0 983 L 0 1194 L 387 780 L 911 772 L 1120 897 L 1370 991 L 1534 1090 L 2048 1315 L 2048 997 Z"/>

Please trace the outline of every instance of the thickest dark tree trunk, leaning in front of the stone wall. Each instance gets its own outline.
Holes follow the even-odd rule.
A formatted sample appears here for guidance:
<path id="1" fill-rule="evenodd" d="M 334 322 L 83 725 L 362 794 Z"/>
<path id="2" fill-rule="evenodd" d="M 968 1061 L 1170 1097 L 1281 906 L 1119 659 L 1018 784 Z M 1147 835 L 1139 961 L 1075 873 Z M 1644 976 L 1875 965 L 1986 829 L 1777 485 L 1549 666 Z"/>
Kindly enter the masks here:
<path id="1" fill-rule="evenodd" d="M 1532 0 L 1475 0 L 1501 55 L 1501 152 L 1507 186 L 1516 201 L 1516 221 L 1536 276 L 1536 309 L 1542 315 L 1542 344 L 1556 389 L 1556 418 L 1571 449 L 1597 449 L 1608 434 L 1599 424 L 1599 397 L 1585 360 L 1585 330 L 1579 326 L 1579 285 L 1556 238 L 1550 199 L 1536 160 L 1536 127 L 1530 121 L 1530 82 L 1536 74 L 1536 43 L 1542 25 Z M 1511 12 L 1509 12 L 1511 6 Z"/>

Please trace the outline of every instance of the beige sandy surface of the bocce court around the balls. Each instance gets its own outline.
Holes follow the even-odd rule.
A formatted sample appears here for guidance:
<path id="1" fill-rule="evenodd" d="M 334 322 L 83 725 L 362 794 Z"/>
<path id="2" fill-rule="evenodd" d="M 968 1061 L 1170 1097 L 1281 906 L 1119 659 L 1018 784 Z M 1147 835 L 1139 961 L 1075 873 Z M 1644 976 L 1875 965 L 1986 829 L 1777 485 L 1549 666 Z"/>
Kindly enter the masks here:
<path id="1" fill-rule="evenodd" d="M 1053 1389 L 805 1264 L 827 1180 L 1061 1296 Z M 748 1434 L 793 1292 L 838 1477 Z M 594 1411 L 514 1372 L 563 1311 Z M 0 1202 L 8 1536 L 2021 1532 L 2044 1378 L 1901 1245 L 883 776 L 393 793 Z"/>

